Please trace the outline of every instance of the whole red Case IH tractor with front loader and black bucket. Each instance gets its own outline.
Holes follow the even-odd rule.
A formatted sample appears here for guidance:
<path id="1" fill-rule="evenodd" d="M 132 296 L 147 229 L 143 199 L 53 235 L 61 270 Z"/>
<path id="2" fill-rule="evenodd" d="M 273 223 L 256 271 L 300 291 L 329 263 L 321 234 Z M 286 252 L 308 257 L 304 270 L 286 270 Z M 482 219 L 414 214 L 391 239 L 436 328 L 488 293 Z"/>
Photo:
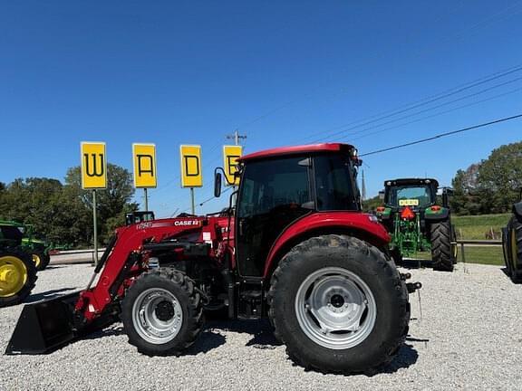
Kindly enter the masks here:
<path id="1" fill-rule="evenodd" d="M 205 312 L 224 310 L 230 319 L 268 317 L 303 367 L 381 366 L 401 348 L 408 292 L 420 283 L 405 283 L 390 236 L 362 214 L 360 164 L 344 144 L 242 157 L 228 215 L 117 229 L 84 291 L 24 307 L 6 353 L 52 351 L 121 319 L 140 352 L 179 355 L 198 338 Z"/>

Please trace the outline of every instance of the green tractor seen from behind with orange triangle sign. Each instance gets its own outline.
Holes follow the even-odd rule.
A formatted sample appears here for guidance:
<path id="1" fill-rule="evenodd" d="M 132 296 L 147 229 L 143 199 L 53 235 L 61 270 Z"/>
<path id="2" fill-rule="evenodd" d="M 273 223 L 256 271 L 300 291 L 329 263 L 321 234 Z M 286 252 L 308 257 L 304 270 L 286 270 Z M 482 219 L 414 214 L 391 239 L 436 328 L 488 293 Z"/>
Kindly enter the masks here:
<path id="1" fill-rule="evenodd" d="M 431 178 L 401 178 L 384 182 L 384 205 L 376 215 L 391 234 L 390 251 L 395 262 L 418 252 L 431 252 L 433 269 L 452 272 L 457 260 L 455 229 L 449 213 L 449 188 Z"/>

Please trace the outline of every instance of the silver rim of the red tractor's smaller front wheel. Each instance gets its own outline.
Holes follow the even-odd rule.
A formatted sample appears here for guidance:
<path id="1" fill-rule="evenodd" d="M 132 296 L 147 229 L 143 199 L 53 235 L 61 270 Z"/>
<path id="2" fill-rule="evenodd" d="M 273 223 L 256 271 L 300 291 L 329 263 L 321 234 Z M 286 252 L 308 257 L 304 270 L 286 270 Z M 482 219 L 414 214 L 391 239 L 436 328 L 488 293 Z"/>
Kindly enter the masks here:
<path id="1" fill-rule="evenodd" d="M 171 292 L 150 288 L 142 291 L 134 301 L 132 321 L 142 339 L 160 345 L 178 335 L 183 324 L 183 310 Z"/>

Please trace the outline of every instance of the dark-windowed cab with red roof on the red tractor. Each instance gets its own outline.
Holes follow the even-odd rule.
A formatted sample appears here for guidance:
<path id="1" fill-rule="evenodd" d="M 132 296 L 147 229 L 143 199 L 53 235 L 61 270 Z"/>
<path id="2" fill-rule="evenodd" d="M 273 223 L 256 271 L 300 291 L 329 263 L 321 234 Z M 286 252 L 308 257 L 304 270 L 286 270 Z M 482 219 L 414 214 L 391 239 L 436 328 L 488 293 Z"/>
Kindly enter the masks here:
<path id="1" fill-rule="evenodd" d="M 277 237 L 304 216 L 361 212 L 357 150 L 349 145 L 332 146 L 275 148 L 239 159 L 236 245 L 242 275 L 261 277 Z M 218 172 L 216 196 L 220 182 Z"/>

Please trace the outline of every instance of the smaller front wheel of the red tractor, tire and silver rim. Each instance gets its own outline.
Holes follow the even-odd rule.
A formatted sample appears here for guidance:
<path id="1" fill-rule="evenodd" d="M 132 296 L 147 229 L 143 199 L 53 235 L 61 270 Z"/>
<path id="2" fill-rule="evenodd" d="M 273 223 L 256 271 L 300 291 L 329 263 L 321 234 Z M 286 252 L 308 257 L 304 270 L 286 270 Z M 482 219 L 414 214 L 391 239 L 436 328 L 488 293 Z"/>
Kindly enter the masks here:
<path id="1" fill-rule="evenodd" d="M 174 268 L 142 274 L 121 304 L 129 342 L 148 356 L 180 355 L 203 327 L 201 299 L 194 281 Z"/>

